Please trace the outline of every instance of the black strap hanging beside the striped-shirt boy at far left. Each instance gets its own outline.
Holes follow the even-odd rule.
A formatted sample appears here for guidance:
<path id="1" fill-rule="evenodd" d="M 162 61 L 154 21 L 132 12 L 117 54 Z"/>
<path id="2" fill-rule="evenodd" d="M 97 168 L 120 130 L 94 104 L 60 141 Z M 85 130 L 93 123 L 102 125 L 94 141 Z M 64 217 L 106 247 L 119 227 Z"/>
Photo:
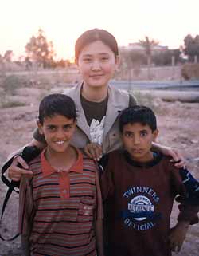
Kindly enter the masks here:
<path id="1" fill-rule="evenodd" d="M 33 160 L 36 156 L 38 156 L 40 153 L 40 150 L 33 146 L 33 147 L 25 147 L 23 149 L 23 152 L 21 152 L 20 156 L 23 158 L 23 160 L 25 160 L 25 162 L 29 163 L 29 161 Z M 2 215 L 1 215 L 1 220 L 0 220 L 0 223 L 2 223 L 2 217 L 3 217 L 3 214 L 5 212 L 5 209 L 6 209 L 6 205 L 8 203 L 8 200 L 10 199 L 10 195 L 12 194 L 13 191 L 19 193 L 18 190 L 15 189 L 15 187 L 19 187 L 20 185 L 20 182 L 16 182 L 14 180 L 9 180 L 6 178 L 6 176 L 4 175 L 5 172 L 7 171 L 7 169 L 10 167 L 11 163 L 13 163 L 13 160 L 14 160 L 14 156 L 9 160 L 7 161 L 3 167 L 2 167 L 2 182 L 6 184 L 6 186 L 8 187 L 8 191 L 6 193 L 6 197 L 3 201 L 3 205 L 2 205 Z M 18 164 L 18 167 L 21 167 L 20 164 Z M 15 238 L 18 238 L 19 234 L 15 234 L 13 238 L 3 238 L 2 237 L 2 234 L 0 234 L 0 238 L 2 239 L 2 241 L 13 241 Z"/>

